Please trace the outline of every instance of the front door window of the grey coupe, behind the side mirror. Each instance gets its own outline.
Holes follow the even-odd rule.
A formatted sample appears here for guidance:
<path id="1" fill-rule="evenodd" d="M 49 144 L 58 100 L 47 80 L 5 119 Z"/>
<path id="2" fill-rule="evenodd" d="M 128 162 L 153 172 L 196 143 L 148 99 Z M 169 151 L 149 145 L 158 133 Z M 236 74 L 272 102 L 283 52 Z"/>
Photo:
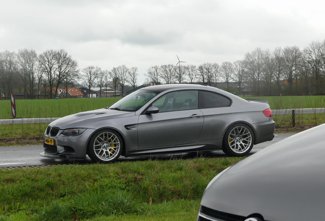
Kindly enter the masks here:
<path id="1" fill-rule="evenodd" d="M 159 98 L 152 106 L 158 107 L 159 113 L 197 109 L 199 104 L 198 98 L 198 91 L 171 92 Z"/>

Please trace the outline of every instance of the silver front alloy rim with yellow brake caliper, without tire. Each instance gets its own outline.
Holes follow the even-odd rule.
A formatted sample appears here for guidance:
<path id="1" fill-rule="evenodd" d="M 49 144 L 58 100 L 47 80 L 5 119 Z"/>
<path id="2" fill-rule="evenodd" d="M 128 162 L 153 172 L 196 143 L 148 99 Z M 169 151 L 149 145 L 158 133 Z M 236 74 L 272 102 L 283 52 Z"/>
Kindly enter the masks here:
<path id="1" fill-rule="evenodd" d="M 112 132 L 102 132 L 94 141 L 96 156 L 102 161 L 111 161 L 119 156 L 121 142 Z"/>

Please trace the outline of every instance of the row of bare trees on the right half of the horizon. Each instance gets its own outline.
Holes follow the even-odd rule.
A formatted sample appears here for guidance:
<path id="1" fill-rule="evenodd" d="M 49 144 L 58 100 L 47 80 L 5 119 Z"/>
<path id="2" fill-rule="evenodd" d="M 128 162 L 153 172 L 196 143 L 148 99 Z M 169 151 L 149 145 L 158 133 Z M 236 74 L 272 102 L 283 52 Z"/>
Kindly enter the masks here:
<path id="1" fill-rule="evenodd" d="M 273 51 L 261 48 L 247 52 L 235 62 L 203 63 L 195 65 L 151 66 L 147 82 L 196 83 L 206 82 L 217 86 L 236 82 L 239 93 L 246 83 L 252 94 L 272 95 L 324 95 L 325 94 L 325 40 L 313 41 L 300 50 L 297 46 L 277 47 Z"/>

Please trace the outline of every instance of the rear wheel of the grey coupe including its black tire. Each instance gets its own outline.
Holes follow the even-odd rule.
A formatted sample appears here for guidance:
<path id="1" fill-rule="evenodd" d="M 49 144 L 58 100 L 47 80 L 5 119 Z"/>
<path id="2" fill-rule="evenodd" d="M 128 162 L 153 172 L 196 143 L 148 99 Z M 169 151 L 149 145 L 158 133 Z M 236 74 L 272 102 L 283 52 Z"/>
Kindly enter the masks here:
<path id="1" fill-rule="evenodd" d="M 234 157 L 242 157 L 249 153 L 254 145 L 254 133 L 246 124 L 234 124 L 229 127 L 223 137 L 222 151 Z"/>

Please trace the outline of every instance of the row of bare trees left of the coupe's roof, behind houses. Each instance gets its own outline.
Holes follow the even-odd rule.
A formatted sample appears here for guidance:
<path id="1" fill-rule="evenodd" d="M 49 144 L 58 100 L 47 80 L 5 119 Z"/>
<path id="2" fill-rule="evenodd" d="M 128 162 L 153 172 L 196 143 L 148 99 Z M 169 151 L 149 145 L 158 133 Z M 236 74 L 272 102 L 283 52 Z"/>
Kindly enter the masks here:
<path id="1" fill-rule="evenodd" d="M 100 67 L 88 66 L 78 69 L 78 62 L 65 50 L 47 50 L 37 54 L 34 50 L 22 49 L 18 53 L 0 52 L 0 92 L 9 98 L 11 90 L 24 92 L 24 97 L 39 98 L 40 91 L 50 89 L 50 98 L 56 97 L 58 88 L 90 87 L 100 89 L 113 87 L 122 89 L 126 83 L 136 86 L 137 68 L 125 65 L 111 71 Z M 52 91 L 55 91 L 53 94 Z M 90 92 L 89 92 L 90 93 Z M 67 93 L 66 93 L 67 96 Z M 101 96 L 101 93 L 100 93 Z"/>

